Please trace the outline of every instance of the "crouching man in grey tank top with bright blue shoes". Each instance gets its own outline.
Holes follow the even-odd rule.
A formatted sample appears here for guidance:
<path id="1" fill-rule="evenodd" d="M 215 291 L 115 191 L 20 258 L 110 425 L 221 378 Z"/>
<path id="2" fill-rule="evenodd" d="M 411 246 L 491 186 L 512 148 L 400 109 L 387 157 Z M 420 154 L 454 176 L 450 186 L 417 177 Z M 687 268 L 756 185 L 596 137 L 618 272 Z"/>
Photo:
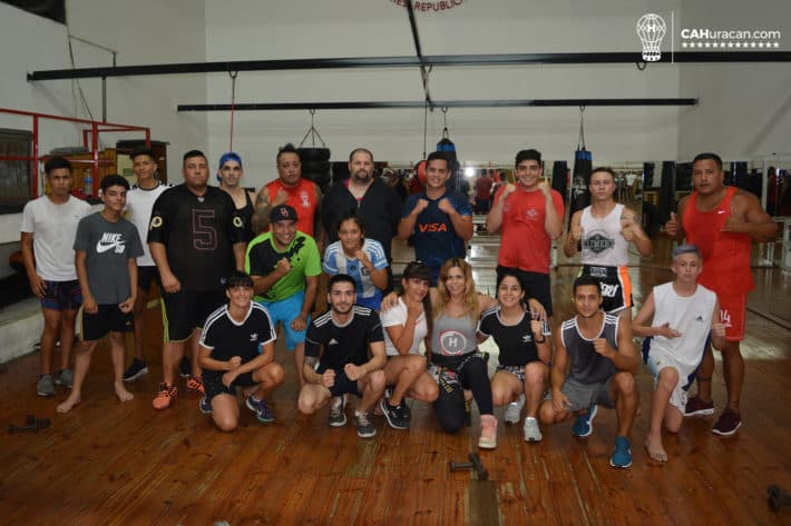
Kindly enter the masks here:
<path id="1" fill-rule="evenodd" d="M 602 310 L 598 280 L 589 276 L 577 278 L 573 301 L 577 315 L 564 321 L 557 331 L 550 371 L 551 399 L 541 404 L 539 419 L 557 424 L 577 414 L 572 433 L 586 437 L 593 433 L 598 406 L 614 407 L 618 429 L 609 465 L 627 468 L 632 465 L 629 433 L 638 401 L 632 374 L 637 366 L 637 353 L 618 317 Z"/>

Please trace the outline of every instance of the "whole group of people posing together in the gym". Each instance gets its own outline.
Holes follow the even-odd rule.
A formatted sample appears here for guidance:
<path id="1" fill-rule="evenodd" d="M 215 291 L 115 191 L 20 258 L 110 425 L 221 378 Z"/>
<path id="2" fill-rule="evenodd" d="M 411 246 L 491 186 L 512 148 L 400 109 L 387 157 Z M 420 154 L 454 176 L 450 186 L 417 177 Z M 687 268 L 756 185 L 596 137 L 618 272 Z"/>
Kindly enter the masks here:
<path id="1" fill-rule="evenodd" d="M 549 261 L 565 211 L 563 197 L 543 178 L 537 150 L 517 153 L 516 181 L 497 189 L 486 218 L 487 229 L 501 235 L 496 298 L 476 290 L 465 261 L 472 209 L 448 188 L 451 163 L 442 152 L 428 157 L 426 187 L 403 206 L 373 176 L 373 155 L 364 148 L 349 157 L 350 178 L 326 195 L 301 177 L 291 145 L 277 152 L 277 179 L 257 195 L 242 186 L 242 158 L 234 152 L 219 159 L 219 187 L 208 185 L 208 161 L 198 150 L 184 155 L 184 182 L 174 187 L 156 178 L 150 150 L 131 160 L 134 188 L 120 176 L 105 177 L 104 207 L 90 214 L 70 196 L 68 161 L 50 159 L 49 192 L 25 208 L 22 254 L 45 318 L 37 391 L 53 396 L 55 384 L 70 387 L 60 413 L 80 403 L 91 353 L 105 336 L 115 393 L 121 401 L 133 398 L 124 383 L 147 373 L 144 310 L 157 281 L 163 383 L 153 406 L 173 404 L 179 371 L 186 388 L 202 395 L 199 409 L 223 430 L 238 425 L 235 387 L 258 420 L 274 419 L 265 398 L 285 376 L 274 359 L 279 326 L 294 355 L 299 409 L 310 415 L 329 404 L 329 424 L 343 426 L 354 395 L 363 438 L 375 435 L 371 413 L 409 428 L 408 398 L 432 404 L 448 433 L 469 425 L 475 400 L 481 448 L 497 446 L 495 406 L 506 406 L 508 423 L 520 421 L 527 407 L 527 441 L 541 440 L 539 424 L 573 416 L 573 433 L 588 436 L 603 406 L 615 408 L 618 419 L 611 464 L 628 467 L 638 406 L 633 335 L 646 337 L 644 359 L 656 380 L 645 440 L 652 458 L 667 459 L 663 425 L 676 433 L 683 416 L 713 413 L 707 341 L 723 354 L 729 390 L 713 430 L 729 435 L 741 425 L 739 340 L 752 288 L 750 244 L 772 239 L 777 227 L 753 196 L 723 186 L 722 161 L 713 153 L 695 158 L 695 191 L 666 226 L 668 235 L 686 239 L 673 252 L 675 279 L 655 287 L 634 320 L 628 249 L 648 256 L 652 242 L 637 214 L 615 201 L 614 172 L 593 170 L 592 204 L 572 216 L 563 245 L 567 256 L 580 252 L 583 264 L 573 287 L 575 316 L 554 336 Z M 417 257 L 399 284 L 390 265 L 394 238 L 411 238 Z M 312 318 L 326 276 L 328 309 Z M 125 371 L 124 333 L 133 329 L 135 358 Z M 489 337 L 499 348 L 491 378 L 478 348 Z M 57 341 L 60 368 L 52 374 Z M 191 359 L 183 363 L 185 354 Z M 699 365 L 699 393 L 687 399 Z"/>

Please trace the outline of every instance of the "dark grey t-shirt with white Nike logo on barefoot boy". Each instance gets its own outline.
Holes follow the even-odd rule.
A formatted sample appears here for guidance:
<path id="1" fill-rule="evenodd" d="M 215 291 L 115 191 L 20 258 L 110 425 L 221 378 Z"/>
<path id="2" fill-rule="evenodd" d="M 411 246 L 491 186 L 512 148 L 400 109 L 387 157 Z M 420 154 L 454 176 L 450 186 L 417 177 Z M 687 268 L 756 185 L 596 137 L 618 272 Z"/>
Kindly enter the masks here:
<path id="1" fill-rule="evenodd" d="M 131 222 L 124 218 L 111 222 L 101 212 L 86 216 L 77 226 L 74 249 L 87 254 L 88 287 L 97 304 L 118 305 L 131 296 L 129 259 L 143 255 Z"/>

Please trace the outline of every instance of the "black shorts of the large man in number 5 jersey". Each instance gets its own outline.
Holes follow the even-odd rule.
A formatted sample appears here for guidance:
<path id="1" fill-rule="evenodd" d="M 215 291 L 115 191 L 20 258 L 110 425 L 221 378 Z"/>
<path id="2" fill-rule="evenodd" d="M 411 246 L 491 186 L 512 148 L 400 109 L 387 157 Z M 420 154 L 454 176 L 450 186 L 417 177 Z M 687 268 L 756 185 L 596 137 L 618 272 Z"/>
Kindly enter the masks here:
<path id="1" fill-rule="evenodd" d="M 193 330 L 203 327 L 208 315 L 227 301 L 225 292 L 212 290 L 207 292 L 178 292 L 162 295 L 162 316 L 164 339 L 184 341 Z"/>

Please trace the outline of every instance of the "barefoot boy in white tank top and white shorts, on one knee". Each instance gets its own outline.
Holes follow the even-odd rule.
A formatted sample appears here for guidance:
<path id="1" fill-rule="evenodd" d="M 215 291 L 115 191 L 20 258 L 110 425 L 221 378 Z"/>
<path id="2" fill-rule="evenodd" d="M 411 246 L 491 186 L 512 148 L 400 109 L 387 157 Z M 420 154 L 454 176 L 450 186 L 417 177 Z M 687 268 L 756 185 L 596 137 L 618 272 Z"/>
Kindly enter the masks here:
<path id="1" fill-rule="evenodd" d="M 720 320 L 716 295 L 696 281 L 703 270 L 697 247 L 674 248 L 671 268 L 675 279 L 654 287 L 633 325 L 635 335 L 646 337 L 643 357 L 654 375 L 645 448 L 657 462 L 667 462 L 662 423 L 670 433 L 678 433 L 684 420 L 686 390 L 703 359 L 709 331 L 714 347 L 721 349 L 725 344 L 725 325 Z"/>

